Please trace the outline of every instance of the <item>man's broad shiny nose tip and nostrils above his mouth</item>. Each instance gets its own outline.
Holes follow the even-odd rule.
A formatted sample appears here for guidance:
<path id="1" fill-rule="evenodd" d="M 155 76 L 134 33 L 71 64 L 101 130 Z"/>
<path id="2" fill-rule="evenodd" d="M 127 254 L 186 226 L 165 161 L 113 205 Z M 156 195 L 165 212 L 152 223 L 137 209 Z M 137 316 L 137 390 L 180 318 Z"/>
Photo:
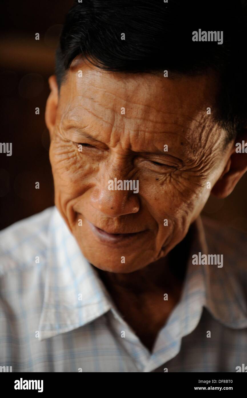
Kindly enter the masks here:
<path id="1" fill-rule="evenodd" d="M 91 205 L 93 206 L 93 208 L 110 218 L 137 213 L 140 209 L 140 201 L 138 193 L 133 193 L 133 191 L 126 189 L 109 190 L 108 181 L 111 178 L 108 178 L 108 176 L 106 175 L 102 176 L 100 184 L 96 185 L 93 188 L 90 197 Z M 111 180 L 114 181 L 114 178 L 112 178 Z M 120 178 L 117 178 L 117 180 L 119 181 Z M 116 184 L 114 188 L 115 187 Z"/>

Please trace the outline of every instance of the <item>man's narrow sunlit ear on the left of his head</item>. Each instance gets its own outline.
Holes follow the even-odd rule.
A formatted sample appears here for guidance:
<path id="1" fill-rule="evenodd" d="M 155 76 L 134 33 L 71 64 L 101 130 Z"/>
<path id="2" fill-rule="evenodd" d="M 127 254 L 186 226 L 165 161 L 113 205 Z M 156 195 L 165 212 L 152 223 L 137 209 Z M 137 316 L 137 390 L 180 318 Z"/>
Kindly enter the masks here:
<path id="1" fill-rule="evenodd" d="M 45 123 L 51 137 L 56 122 L 56 114 L 58 108 L 58 84 L 56 76 L 55 75 L 50 76 L 48 82 L 50 86 L 50 95 L 46 101 Z"/>

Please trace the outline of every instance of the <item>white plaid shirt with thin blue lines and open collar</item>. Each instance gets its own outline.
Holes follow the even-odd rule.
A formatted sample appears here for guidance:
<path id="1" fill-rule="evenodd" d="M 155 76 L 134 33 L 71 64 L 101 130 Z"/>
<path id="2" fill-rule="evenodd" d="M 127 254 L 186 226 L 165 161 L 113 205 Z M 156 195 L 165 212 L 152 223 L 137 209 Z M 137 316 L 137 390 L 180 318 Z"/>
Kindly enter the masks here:
<path id="1" fill-rule="evenodd" d="M 246 235 L 201 218 L 194 225 L 182 296 L 152 353 L 123 320 L 56 207 L 2 230 L 0 366 L 13 372 L 236 372 L 246 366 Z M 199 252 L 223 254 L 223 267 L 192 265 Z"/>

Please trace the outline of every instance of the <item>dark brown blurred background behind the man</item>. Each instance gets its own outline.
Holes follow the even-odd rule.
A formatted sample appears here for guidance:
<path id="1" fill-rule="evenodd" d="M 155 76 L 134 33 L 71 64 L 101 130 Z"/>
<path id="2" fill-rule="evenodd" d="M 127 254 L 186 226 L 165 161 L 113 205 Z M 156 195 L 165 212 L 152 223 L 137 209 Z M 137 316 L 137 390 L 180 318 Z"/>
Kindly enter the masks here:
<path id="1" fill-rule="evenodd" d="M 58 36 L 72 4 L 73 0 L 1 4 L 0 142 L 12 142 L 12 156 L 0 153 L 0 229 L 54 205 L 44 111 Z M 40 189 L 35 189 L 36 181 Z M 247 232 L 246 203 L 247 174 L 226 199 L 210 197 L 203 213 Z"/>

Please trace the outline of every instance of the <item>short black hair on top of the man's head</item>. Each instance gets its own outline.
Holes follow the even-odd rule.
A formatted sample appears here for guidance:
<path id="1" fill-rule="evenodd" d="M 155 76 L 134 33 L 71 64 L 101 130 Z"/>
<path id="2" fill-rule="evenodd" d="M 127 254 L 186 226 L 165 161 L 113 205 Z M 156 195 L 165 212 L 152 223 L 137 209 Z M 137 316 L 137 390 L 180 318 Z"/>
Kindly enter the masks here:
<path id="1" fill-rule="evenodd" d="M 223 31 L 223 43 L 192 41 L 199 29 Z M 229 142 L 247 125 L 246 32 L 246 0 L 76 0 L 56 51 L 58 87 L 80 54 L 111 72 L 193 76 L 214 70 L 213 117 Z"/>

